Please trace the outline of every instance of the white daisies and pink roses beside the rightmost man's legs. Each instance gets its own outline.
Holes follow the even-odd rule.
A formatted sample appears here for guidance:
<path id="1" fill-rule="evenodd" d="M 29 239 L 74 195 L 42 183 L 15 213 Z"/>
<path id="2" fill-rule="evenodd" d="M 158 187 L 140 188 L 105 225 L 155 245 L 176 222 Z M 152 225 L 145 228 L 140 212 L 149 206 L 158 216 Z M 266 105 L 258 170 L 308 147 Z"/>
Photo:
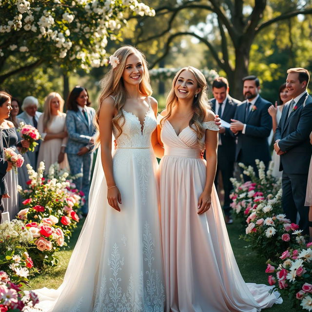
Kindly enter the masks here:
<path id="1" fill-rule="evenodd" d="M 299 226 L 281 214 L 280 190 L 273 199 L 262 201 L 247 217 L 246 235 L 250 248 L 260 256 L 274 258 L 286 248 L 305 243 Z"/>

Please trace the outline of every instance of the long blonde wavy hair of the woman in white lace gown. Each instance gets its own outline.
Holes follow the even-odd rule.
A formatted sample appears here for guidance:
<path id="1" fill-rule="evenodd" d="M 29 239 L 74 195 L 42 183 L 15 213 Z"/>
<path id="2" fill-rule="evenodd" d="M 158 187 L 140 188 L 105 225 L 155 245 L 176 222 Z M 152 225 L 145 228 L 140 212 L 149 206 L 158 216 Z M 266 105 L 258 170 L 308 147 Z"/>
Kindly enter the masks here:
<path id="1" fill-rule="evenodd" d="M 113 96 L 115 100 L 115 108 L 117 110 L 117 114 L 112 119 L 113 125 L 117 128 L 118 131 L 116 138 L 122 134 L 122 126 L 125 122 L 122 107 L 124 106 L 127 99 L 127 91 L 124 87 L 122 74 L 126 66 L 127 58 L 132 54 L 136 54 L 140 57 L 144 69 L 143 78 L 139 84 L 139 91 L 146 97 L 152 95 L 150 75 L 144 54 L 131 45 L 126 45 L 117 49 L 117 51 L 113 54 L 113 57 L 118 58 L 119 64 L 116 66 L 116 68 L 112 67 L 101 81 L 102 92 L 99 97 L 98 110 L 94 118 L 94 124 L 99 132 L 99 112 L 103 100 L 109 96 Z M 119 120 L 121 119 L 123 119 L 123 122 L 120 124 Z M 98 146 L 98 144 L 99 136 L 97 135 L 96 145 Z"/>

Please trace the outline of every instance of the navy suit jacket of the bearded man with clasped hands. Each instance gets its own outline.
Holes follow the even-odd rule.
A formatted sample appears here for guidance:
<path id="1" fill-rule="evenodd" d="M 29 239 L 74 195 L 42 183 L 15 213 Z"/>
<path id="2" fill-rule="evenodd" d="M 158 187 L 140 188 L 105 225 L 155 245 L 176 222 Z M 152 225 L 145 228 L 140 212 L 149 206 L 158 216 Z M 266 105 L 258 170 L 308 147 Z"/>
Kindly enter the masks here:
<path id="1" fill-rule="evenodd" d="M 271 103 L 260 96 L 246 116 L 247 101 L 237 106 L 234 119 L 246 124 L 245 134 L 237 134 L 236 160 L 254 164 L 255 159 L 268 163 L 271 160 L 268 137 L 272 130 L 272 118 L 268 113 Z"/>

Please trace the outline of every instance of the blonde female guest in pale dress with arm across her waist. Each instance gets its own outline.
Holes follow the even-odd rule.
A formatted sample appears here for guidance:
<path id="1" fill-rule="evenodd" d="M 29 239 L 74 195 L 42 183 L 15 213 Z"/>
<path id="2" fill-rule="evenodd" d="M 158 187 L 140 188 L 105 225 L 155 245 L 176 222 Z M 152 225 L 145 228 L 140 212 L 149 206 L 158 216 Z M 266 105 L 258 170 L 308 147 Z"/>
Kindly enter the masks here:
<path id="1" fill-rule="evenodd" d="M 38 131 L 42 142 L 39 148 L 38 165 L 44 162 L 45 173 L 52 164 L 58 162 L 60 169 L 68 169 L 65 148 L 67 143 L 66 114 L 63 113 L 64 100 L 59 93 L 51 92 L 45 99 L 43 114 L 39 117 Z"/>

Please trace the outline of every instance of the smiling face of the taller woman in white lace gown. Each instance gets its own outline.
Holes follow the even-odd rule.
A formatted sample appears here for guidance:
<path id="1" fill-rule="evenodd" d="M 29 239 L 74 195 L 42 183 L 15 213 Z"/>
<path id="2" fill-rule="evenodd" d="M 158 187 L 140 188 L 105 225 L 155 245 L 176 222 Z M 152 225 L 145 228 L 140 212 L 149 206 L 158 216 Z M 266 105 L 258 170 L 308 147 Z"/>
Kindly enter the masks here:
<path id="1" fill-rule="evenodd" d="M 137 54 L 131 54 L 126 60 L 126 65 L 122 73 L 125 85 L 138 85 L 143 79 L 144 68 L 142 59 Z"/>

